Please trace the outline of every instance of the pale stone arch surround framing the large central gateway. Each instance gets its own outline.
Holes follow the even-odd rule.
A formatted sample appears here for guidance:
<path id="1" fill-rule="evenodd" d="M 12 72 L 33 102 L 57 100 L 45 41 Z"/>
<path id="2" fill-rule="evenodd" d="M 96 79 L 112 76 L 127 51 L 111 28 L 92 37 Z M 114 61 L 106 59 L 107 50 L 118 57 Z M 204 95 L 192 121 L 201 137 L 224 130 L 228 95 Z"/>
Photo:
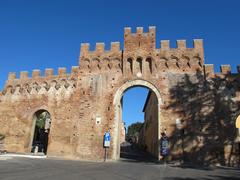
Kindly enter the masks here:
<path id="1" fill-rule="evenodd" d="M 161 94 L 158 88 L 150 83 L 149 81 L 136 79 L 132 81 L 127 81 L 124 83 L 115 93 L 113 106 L 114 106 L 114 130 L 113 130 L 113 154 L 112 159 L 118 159 L 120 157 L 120 123 L 121 123 L 121 98 L 124 92 L 135 86 L 147 87 L 149 90 L 153 91 L 158 100 L 158 139 L 160 139 L 161 121 L 160 121 L 160 107 L 163 104 Z M 159 141 L 158 141 L 159 143 Z M 158 146 L 159 147 L 159 146 Z"/>

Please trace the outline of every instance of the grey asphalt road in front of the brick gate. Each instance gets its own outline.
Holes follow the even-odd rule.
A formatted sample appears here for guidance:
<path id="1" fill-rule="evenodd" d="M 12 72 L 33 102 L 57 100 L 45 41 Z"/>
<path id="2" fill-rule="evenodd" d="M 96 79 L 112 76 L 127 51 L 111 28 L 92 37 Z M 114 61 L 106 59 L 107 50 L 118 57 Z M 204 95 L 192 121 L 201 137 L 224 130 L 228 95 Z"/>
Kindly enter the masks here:
<path id="1" fill-rule="evenodd" d="M 0 158 L 1 180 L 239 180 L 232 168 L 181 168 L 153 162 L 80 162 L 56 159 Z"/>

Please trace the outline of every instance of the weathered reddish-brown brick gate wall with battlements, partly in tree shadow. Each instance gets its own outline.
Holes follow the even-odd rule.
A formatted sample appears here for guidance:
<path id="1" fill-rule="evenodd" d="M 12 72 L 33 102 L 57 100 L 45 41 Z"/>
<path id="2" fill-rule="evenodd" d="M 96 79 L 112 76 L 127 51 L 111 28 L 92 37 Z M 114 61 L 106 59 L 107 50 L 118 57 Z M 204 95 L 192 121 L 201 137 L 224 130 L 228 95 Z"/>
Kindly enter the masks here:
<path id="1" fill-rule="evenodd" d="M 240 67 L 238 67 L 238 72 Z M 10 73 L 0 94 L 0 134 L 10 152 L 30 152 L 33 116 L 47 110 L 52 118 L 48 156 L 100 160 L 103 134 L 110 130 L 111 159 L 120 154 L 121 98 L 133 86 L 146 86 L 158 99 L 158 139 L 166 130 L 171 143 L 170 159 L 206 163 L 237 161 L 235 119 L 240 114 L 240 78 L 230 67 L 215 74 L 204 65 L 202 40 L 187 48 L 161 41 L 156 49 L 155 27 L 149 32 L 125 28 L 124 49 L 113 42 L 110 50 L 97 43 L 81 45 L 79 66 L 70 74 L 59 68 L 58 75 L 46 69 L 45 76 L 34 70 L 32 77 Z M 182 130 L 176 128 L 181 119 Z M 100 120 L 100 122 L 96 122 Z M 184 131 L 184 132 L 183 132 Z"/>

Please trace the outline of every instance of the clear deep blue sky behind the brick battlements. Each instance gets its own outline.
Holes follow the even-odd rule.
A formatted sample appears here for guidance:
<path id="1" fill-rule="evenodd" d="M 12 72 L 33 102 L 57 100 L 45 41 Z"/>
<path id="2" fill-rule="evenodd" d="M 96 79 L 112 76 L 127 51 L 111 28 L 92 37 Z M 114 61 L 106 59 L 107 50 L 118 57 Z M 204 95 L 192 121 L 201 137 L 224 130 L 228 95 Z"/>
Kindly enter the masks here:
<path id="1" fill-rule="evenodd" d="M 49 67 L 55 72 L 58 67 L 70 71 L 78 65 L 81 42 L 89 42 L 92 49 L 96 42 L 105 42 L 107 48 L 111 41 L 122 45 L 126 26 L 147 30 L 154 25 L 157 42 L 169 39 L 172 47 L 177 39 L 186 39 L 191 47 L 192 39 L 202 38 L 205 63 L 215 64 L 216 71 L 220 64 L 231 64 L 236 72 L 240 64 L 239 9 L 238 0 L 2 0 L 0 87 L 10 71 Z M 130 102 L 135 105 L 138 99 Z"/>

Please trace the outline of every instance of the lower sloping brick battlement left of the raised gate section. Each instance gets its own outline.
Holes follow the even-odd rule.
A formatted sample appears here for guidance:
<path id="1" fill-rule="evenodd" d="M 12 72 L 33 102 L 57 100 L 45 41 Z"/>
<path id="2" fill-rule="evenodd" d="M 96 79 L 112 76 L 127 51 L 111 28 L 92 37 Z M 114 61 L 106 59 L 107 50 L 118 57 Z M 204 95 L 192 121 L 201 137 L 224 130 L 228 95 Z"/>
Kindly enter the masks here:
<path id="1" fill-rule="evenodd" d="M 63 92 L 64 97 L 68 98 L 77 86 L 79 66 L 73 66 L 70 74 L 67 74 L 65 67 L 58 68 L 56 75 L 51 68 L 45 69 L 44 76 L 41 76 L 41 71 L 38 69 L 32 71 L 31 77 L 29 74 L 27 71 L 21 71 L 17 78 L 16 73 L 9 73 L 2 95 L 6 97 L 14 95 L 20 98 L 21 95 Z"/>

